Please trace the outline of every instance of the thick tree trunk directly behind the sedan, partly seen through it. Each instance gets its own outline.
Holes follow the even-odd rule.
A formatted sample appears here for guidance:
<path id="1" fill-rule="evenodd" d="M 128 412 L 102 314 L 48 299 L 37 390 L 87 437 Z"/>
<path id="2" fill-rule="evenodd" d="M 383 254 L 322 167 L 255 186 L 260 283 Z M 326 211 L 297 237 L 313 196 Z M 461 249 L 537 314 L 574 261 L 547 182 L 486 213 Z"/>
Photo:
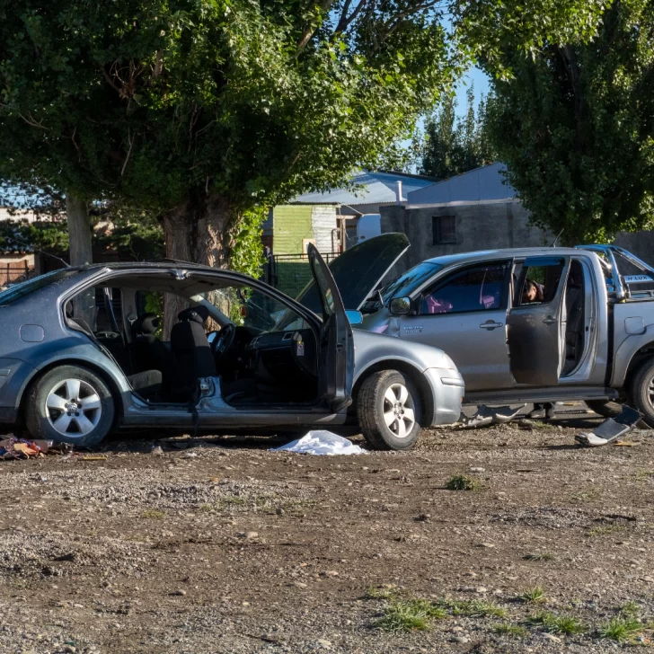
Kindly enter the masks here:
<path id="1" fill-rule="evenodd" d="M 163 217 L 166 257 L 212 268 L 228 268 L 236 223 L 229 201 L 220 196 L 189 198 Z M 167 295 L 163 311 L 163 338 L 170 338 L 177 314 L 188 303 Z"/>

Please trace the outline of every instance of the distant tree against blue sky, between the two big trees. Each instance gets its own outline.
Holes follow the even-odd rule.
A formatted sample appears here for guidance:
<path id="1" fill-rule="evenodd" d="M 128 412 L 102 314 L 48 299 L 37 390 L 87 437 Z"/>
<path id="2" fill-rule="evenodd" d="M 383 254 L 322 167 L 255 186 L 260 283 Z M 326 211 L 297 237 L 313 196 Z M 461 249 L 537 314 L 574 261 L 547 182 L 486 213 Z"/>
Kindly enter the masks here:
<path id="1" fill-rule="evenodd" d="M 485 101 L 474 110 L 474 89 L 467 92 L 464 117 L 456 117 L 456 100 L 447 95 L 425 121 L 420 173 L 440 180 L 493 163 L 495 154 L 485 135 Z"/>

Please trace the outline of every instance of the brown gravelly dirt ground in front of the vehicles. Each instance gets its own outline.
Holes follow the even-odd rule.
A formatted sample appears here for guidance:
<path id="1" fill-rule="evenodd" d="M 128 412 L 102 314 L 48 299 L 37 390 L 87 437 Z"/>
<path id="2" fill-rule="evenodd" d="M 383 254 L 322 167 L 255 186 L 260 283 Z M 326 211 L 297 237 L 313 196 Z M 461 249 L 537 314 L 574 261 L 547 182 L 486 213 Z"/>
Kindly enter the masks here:
<path id="1" fill-rule="evenodd" d="M 106 460 L 0 462 L 0 651 L 647 647 L 654 434 L 575 446 L 598 422 L 561 407 L 531 430 L 341 457 L 253 437 L 154 455 L 149 433 L 110 439 Z M 478 488 L 446 490 L 459 474 Z M 624 642 L 602 637 L 622 624 Z"/>

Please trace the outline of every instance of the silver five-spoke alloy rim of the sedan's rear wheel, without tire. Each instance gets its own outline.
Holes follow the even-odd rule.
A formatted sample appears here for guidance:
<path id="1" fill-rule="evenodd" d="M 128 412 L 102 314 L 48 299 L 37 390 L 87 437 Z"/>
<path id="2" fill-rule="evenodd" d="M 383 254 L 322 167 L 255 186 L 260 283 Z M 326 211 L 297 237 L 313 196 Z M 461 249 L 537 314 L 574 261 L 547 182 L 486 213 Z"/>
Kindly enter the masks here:
<path id="1" fill-rule="evenodd" d="M 88 382 L 66 379 L 48 393 L 46 413 L 52 428 L 62 436 L 83 437 L 97 427 L 102 402 Z"/>

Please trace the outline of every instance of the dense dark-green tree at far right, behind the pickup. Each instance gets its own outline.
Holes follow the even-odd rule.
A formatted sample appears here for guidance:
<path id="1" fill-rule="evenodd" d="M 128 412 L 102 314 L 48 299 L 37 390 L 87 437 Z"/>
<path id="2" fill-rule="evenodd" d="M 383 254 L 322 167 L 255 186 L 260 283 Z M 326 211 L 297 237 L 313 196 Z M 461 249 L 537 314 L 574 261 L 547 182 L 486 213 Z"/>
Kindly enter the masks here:
<path id="1" fill-rule="evenodd" d="M 568 244 L 654 227 L 654 2 L 620 0 L 588 44 L 503 63 L 489 133 L 535 225 Z"/>

